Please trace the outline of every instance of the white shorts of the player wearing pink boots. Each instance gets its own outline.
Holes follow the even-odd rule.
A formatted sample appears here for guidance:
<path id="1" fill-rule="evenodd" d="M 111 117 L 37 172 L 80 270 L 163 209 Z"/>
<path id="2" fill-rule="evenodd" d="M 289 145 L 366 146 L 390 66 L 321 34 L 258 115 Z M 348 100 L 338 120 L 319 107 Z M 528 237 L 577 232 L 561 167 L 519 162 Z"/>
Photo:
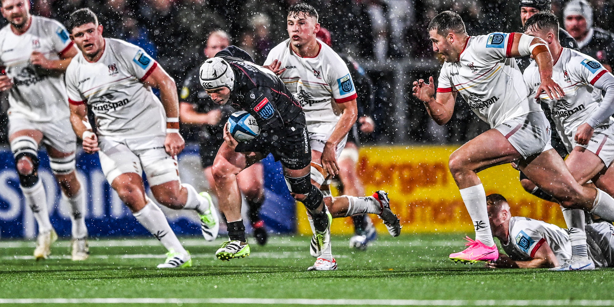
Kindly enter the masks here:
<path id="1" fill-rule="evenodd" d="M 550 123 L 543 111 L 507 120 L 495 126 L 523 158 L 552 149 Z"/>

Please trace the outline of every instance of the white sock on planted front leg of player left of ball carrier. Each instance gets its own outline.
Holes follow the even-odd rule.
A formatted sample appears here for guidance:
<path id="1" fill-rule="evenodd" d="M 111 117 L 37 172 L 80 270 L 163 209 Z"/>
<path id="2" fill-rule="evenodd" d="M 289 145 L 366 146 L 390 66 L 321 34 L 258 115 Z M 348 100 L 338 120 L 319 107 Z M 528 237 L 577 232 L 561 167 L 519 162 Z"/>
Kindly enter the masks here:
<path id="1" fill-rule="evenodd" d="M 134 212 L 132 215 L 143 225 L 143 227 L 149 230 L 168 251 L 173 250 L 174 252 L 179 252 L 184 255 L 187 254 L 184 247 L 179 243 L 179 239 L 177 239 L 171 226 L 168 225 L 168 220 L 166 220 L 164 213 L 158 206 L 153 204 L 152 201 L 147 201 L 143 209 Z"/>

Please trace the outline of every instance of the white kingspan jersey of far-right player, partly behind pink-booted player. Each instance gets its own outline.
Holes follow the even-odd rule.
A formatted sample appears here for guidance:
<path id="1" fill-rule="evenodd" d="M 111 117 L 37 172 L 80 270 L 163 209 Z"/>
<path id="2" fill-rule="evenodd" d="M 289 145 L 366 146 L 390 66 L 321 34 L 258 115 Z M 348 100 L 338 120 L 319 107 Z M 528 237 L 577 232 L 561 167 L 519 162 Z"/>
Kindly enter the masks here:
<path id="1" fill-rule="evenodd" d="M 586 122 L 601 102 L 601 90 L 593 84 L 605 73 L 607 70 L 594 58 L 569 48 L 563 48 L 554 63 L 552 79 L 563 88 L 565 96 L 557 101 L 544 93 L 540 99 L 550 107 L 556 130 L 569 152 L 575 146 L 573 137 L 578 126 Z M 524 81 L 531 93 L 530 100 L 533 100 L 541 83 L 535 61 L 524 71 Z M 614 119 L 610 117 L 596 130 L 612 123 Z"/>

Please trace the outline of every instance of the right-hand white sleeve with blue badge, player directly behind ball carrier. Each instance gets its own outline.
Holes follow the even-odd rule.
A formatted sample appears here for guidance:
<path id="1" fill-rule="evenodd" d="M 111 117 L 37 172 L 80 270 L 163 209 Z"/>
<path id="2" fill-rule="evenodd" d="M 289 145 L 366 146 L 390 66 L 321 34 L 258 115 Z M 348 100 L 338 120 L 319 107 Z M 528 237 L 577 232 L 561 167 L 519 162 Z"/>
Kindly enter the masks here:
<path id="1" fill-rule="evenodd" d="M 335 103 L 346 103 L 358 96 L 348 66 L 339 56 L 334 56 L 330 62 L 326 82 L 330 85 Z"/>

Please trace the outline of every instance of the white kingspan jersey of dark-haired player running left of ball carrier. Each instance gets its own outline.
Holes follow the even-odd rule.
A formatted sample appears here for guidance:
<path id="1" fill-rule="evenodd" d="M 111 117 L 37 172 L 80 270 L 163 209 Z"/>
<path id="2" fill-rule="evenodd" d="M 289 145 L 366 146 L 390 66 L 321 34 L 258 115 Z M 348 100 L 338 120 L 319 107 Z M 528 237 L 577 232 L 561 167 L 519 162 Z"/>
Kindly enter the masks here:
<path id="1" fill-rule="evenodd" d="M 165 135 L 162 104 L 142 83 L 158 63 L 128 42 L 109 38 L 104 42 L 98 61 L 90 63 L 80 54 L 66 69 L 69 103 L 91 107 L 101 136 Z"/>

